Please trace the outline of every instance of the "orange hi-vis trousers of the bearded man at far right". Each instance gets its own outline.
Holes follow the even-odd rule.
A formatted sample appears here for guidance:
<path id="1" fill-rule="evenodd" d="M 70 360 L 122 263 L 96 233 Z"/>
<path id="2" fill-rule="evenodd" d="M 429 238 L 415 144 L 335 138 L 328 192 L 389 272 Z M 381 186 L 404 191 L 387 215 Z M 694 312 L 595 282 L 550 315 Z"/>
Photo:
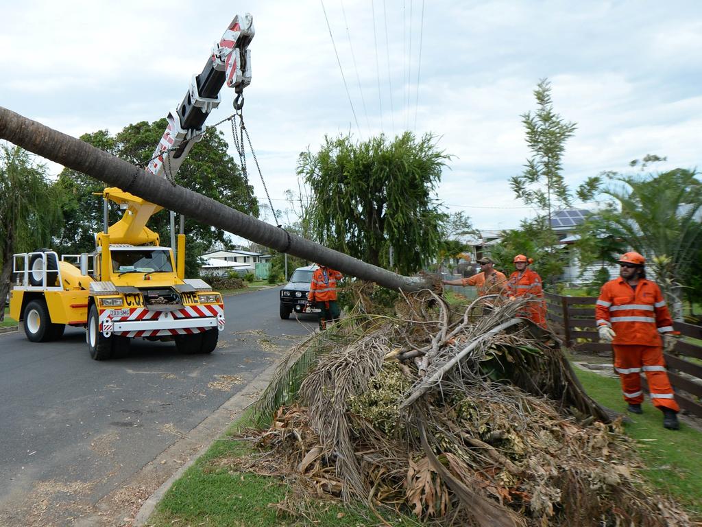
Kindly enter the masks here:
<path id="1" fill-rule="evenodd" d="M 616 344 L 612 347 L 614 367 L 621 379 L 621 390 L 627 403 L 640 404 L 644 400 L 644 392 L 641 390 L 641 372 L 644 372 L 649 383 L 651 403 L 656 408 L 680 411 L 673 395 L 673 386 L 670 386 L 665 372 L 661 346 Z"/>

